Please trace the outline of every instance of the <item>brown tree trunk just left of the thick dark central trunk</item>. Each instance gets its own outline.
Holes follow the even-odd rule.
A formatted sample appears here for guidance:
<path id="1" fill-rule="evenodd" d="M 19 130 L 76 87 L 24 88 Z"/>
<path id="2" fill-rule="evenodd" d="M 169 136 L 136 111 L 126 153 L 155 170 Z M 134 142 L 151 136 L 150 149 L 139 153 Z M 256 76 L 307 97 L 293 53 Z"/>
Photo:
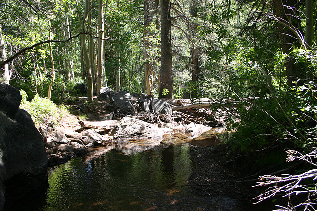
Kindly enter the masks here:
<path id="1" fill-rule="evenodd" d="M 144 0 L 144 93 L 147 95 L 151 95 L 153 89 L 153 65 L 148 53 L 151 45 L 148 30 L 148 26 L 151 23 L 150 10 L 150 0 Z"/>

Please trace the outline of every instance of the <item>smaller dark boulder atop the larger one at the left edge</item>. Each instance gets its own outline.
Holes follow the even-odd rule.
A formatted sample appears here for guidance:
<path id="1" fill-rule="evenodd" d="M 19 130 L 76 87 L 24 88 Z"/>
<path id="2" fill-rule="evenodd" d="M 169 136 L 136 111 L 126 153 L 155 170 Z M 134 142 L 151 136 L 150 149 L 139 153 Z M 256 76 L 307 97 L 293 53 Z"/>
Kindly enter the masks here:
<path id="1" fill-rule="evenodd" d="M 18 88 L 0 82 L 0 111 L 12 117 L 17 112 L 22 96 Z"/>

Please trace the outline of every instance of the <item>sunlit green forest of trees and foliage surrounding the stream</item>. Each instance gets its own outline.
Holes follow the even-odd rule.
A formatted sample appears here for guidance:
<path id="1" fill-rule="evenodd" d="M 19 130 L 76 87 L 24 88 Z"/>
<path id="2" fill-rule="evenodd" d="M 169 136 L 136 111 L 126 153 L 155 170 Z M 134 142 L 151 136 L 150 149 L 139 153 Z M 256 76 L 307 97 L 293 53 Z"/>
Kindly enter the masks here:
<path id="1" fill-rule="evenodd" d="M 294 166 L 259 175 L 258 200 L 316 210 L 315 31 L 315 0 L 0 0 L 0 82 L 56 105 L 92 105 L 101 87 L 209 98 L 228 154 L 252 166 L 278 150 Z"/>

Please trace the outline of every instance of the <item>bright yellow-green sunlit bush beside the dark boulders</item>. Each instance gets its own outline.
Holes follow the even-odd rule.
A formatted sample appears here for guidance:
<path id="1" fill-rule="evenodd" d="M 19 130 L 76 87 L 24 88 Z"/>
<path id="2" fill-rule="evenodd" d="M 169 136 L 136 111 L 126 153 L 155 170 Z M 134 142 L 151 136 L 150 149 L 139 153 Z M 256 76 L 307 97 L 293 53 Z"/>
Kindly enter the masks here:
<path id="1" fill-rule="evenodd" d="M 35 95 L 31 102 L 27 101 L 27 94 L 22 89 L 20 90 L 22 101 L 20 108 L 26 110 L 31 116 L 37 127 L 43 123 L 52 122 L 57 124 L 57 121 L 68 114 L 67 107 L 57 106 L 47 98 L 41 98 Z"/>

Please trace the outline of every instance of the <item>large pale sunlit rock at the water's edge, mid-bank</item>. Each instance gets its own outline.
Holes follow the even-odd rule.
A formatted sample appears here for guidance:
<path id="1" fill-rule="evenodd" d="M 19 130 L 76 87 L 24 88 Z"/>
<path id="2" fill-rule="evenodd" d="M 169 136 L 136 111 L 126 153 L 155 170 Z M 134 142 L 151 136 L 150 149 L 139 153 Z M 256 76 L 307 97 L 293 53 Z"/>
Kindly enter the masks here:
<path id="1" fill-rule="evenodd" d="M 164 131 L 159 127 L 130 117 L 124 117 L 111 131 L 115 139 L 159 139 Z"/>

